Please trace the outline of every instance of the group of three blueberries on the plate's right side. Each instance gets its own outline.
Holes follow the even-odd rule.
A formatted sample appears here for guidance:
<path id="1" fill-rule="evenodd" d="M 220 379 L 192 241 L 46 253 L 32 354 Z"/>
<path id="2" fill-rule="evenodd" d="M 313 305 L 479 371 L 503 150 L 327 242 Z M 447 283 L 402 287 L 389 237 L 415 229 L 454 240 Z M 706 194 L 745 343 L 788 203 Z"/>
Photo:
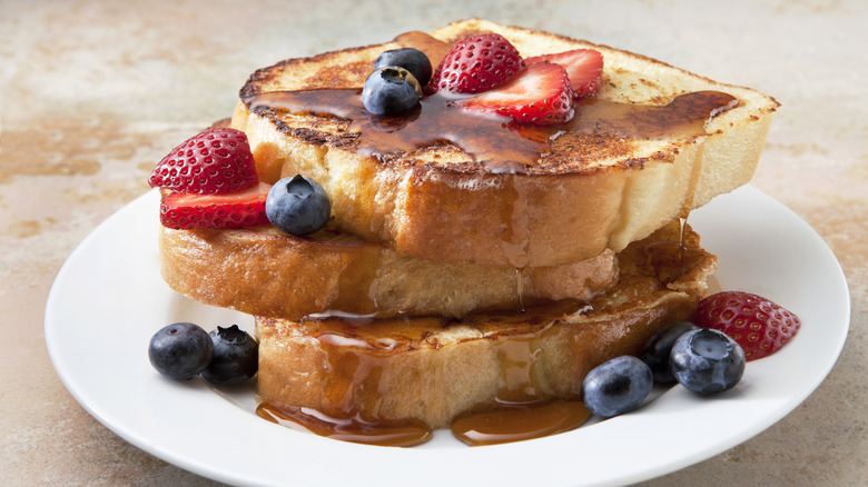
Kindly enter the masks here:
<path id="1" fill-rule="evenodd" d="M 654 381 L 679 382 L 711 395 L 729 390 L 744 372 L 744 351 L 726 334 L 674 321 L 651 336 L 641 359 L 618 357 L 591 370 L 582 382 L 588 409 L 604 418 L 637 409 Z"/>

